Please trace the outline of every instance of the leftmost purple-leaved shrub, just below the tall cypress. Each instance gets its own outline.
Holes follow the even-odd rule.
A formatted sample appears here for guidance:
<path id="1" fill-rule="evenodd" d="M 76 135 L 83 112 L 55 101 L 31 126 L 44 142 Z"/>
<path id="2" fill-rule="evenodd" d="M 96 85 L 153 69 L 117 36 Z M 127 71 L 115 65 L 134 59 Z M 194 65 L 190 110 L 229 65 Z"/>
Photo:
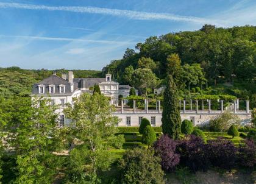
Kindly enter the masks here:
<path id="1" fill-rule="evenodd" d="M 180 162 L 180 156 L 176 154 L 176 142 L 168 135 L 162 135 L 154 143 L 155 153 L 162 158 L 161 165 L 165 171 L 173 171 Z"/>

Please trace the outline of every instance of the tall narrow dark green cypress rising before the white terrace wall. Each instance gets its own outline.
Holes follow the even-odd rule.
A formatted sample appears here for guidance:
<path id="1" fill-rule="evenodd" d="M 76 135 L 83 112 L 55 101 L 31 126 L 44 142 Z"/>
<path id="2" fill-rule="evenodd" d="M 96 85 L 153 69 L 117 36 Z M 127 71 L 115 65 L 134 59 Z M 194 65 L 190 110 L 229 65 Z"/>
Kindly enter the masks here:
<path id="1" fill-rule="evenodd" d="M 167 134 L 172 139 L 177 139 L 180 135 L 181 119 L 178 101 L 177 87 L 172 76 L 168 75 L 163 93 L 162 129 L 163 134 Z"/>

